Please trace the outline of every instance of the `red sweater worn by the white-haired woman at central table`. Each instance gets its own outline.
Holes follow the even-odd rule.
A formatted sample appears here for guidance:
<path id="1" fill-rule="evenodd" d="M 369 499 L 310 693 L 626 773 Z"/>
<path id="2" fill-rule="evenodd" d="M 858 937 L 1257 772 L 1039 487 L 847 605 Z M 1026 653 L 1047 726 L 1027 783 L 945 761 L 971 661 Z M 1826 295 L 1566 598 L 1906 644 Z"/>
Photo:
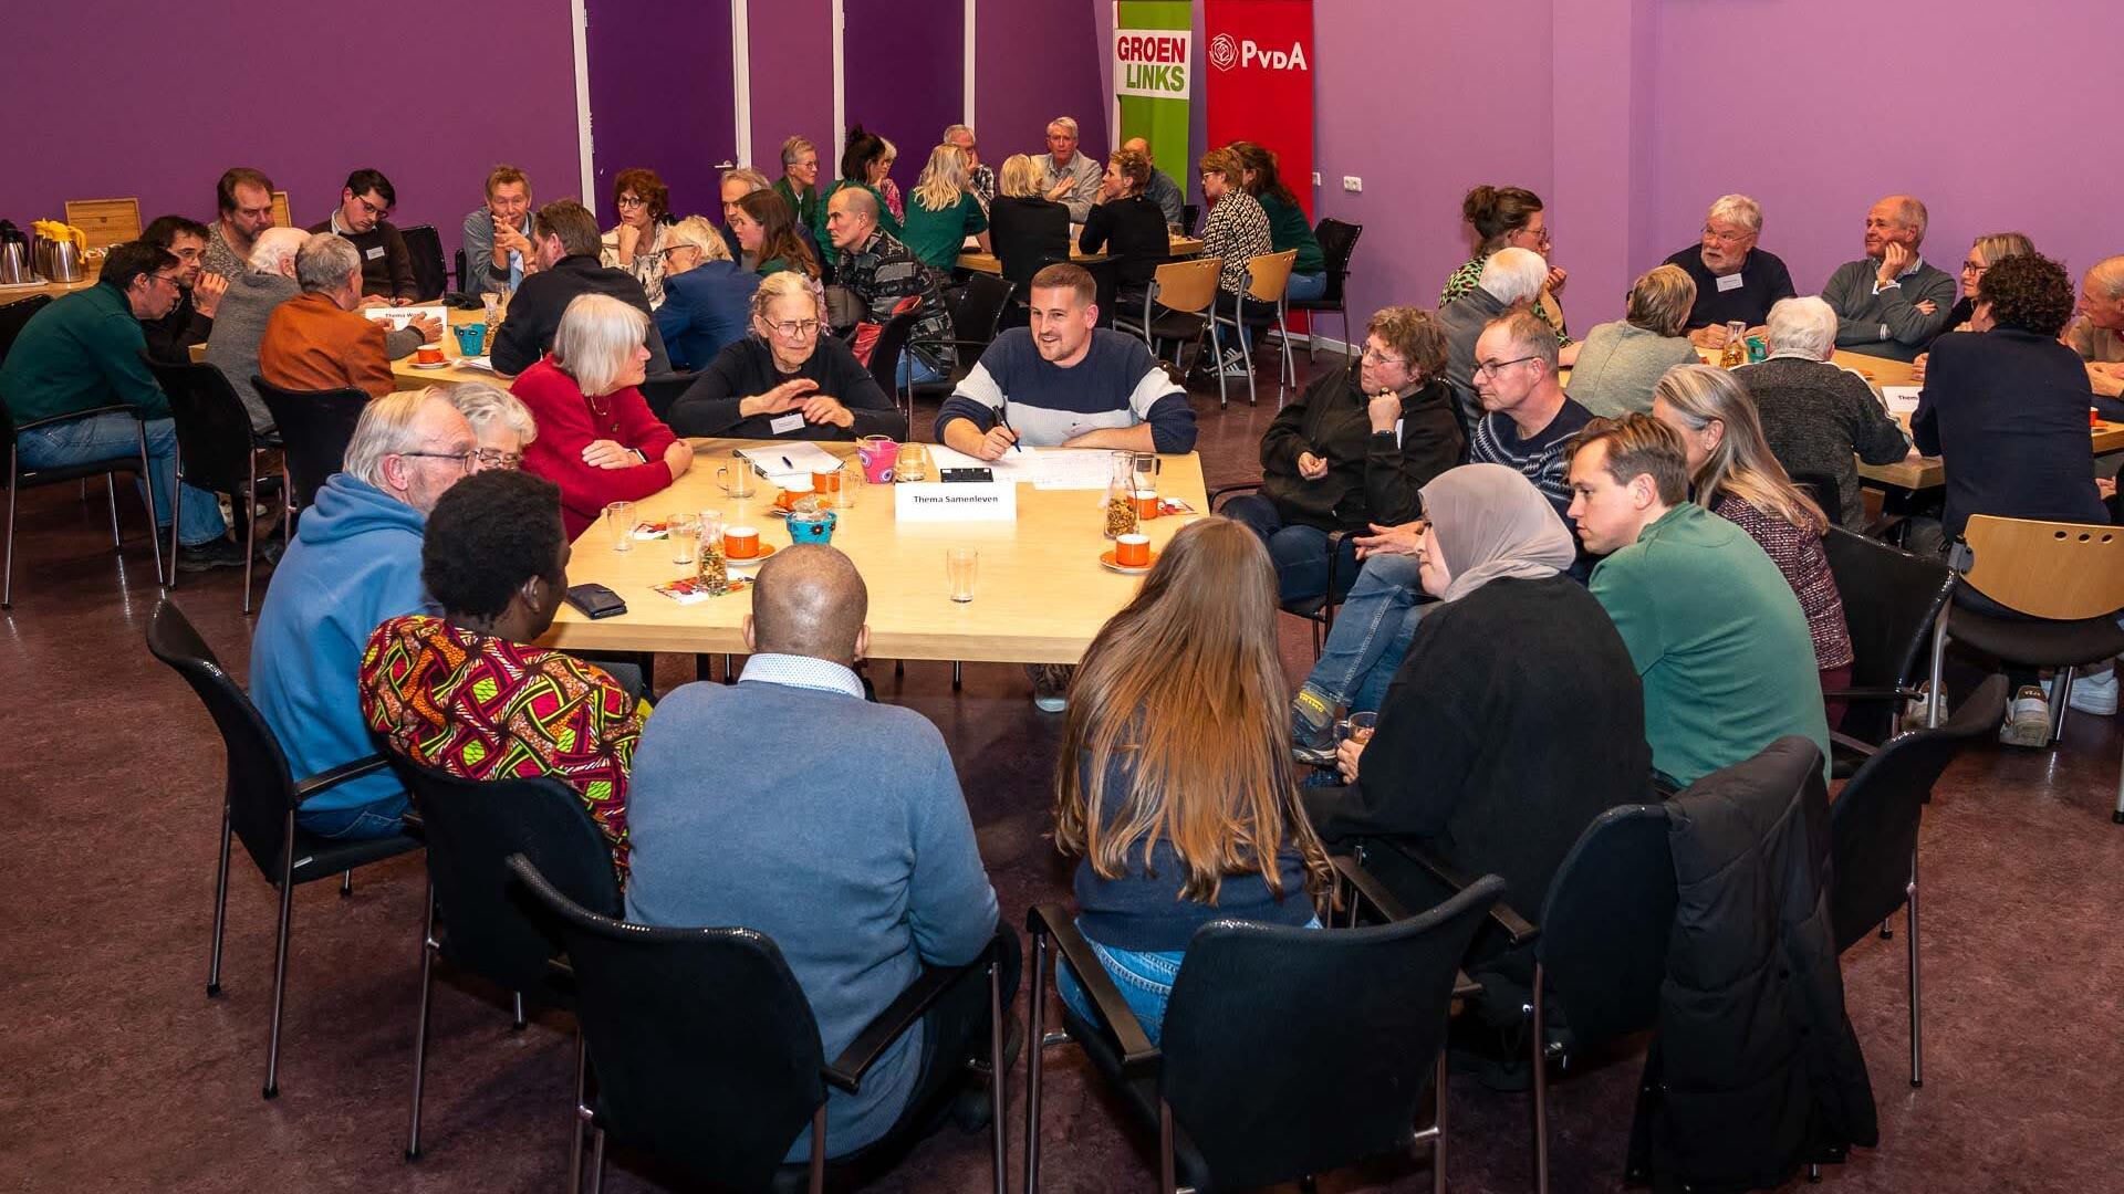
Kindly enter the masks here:
<path id="1" fill-rule="evenodd" d="M 584 397 L 576 378 L 563 374 L 552 357 L 544 357 L 516 378 L 510 393 L 537 421 L 537 440 L 525 446 L 525 472 L 561 487 L 561 518 L 569 540 L 586 531 L 607 501 L 639 501 L 671 484 L 671 465 L 663 463 L 663 453 L 678 436 L 650 414 L 635 387 Z M 593 440 L 637 448 L 648 463 L 618 470 L 586 465 L 582 450 Z"/>

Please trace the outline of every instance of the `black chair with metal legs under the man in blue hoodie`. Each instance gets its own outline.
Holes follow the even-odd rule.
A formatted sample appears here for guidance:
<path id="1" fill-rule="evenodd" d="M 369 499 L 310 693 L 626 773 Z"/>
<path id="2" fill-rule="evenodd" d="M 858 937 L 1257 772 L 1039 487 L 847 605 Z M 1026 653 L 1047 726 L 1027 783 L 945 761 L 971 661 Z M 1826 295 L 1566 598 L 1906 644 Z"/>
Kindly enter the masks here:
<path id="1" fill-rule="evenodd" d="M 266 1098 L 274 1098 L 280 1094 L 280 1011 L 287 1001 L 287 935 L 295 911 L 295 884 L 340 875 L 340 894 L 344 897 L 353 890 L 355 867 L 418 850 L 421 839 L 410 831 L 399 831 L 391 837 L 340 841 L 295 824 L 295 809 L 302 801 L 380 771 L 382 756 L 355 758 L 331 771 L 295 780 L 289 775 L 287 754 L 280 752 L 272 727 L 221 667 L 215 652 L 206 648 L 200 633 L 191 629 L 185 612 L 168 597 L 155 605 L 155 614 L 147 622 L 147 648 L 183 676 L 185 684 L 191 684 L 200 703 L 215 718 L 221 746 L 227 750 L 229 775 L 221 799 L 221 865 L 215 871 L 215 948 L 206 969 L 208 996 L 221 994 L 221 931 L 229 907 L 232 833 L 242 839 L 259 875 L 280 888 L 280 926 L 274 937 L 272 965 L 272 1035 L 266 1043 Z"/>

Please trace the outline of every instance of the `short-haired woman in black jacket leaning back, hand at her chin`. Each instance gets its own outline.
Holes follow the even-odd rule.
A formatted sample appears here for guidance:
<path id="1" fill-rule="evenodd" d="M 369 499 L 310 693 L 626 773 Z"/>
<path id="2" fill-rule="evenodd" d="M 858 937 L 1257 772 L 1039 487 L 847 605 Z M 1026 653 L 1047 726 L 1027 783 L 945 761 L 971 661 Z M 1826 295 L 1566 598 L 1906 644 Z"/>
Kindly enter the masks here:
<path id="1" fill-rule="evenodd" d="M 1357 580 L 1355 535 L 1421 514 L 1419 491 L 1461 459 L 1446 334 L 1427 310 L 1383 308 L 1357 368 L 1306 387 L 1262 436 L 1262 489 L 1223 514 L 1268 544 L 1283 601 L 1340 599 Z M 1342 531 L 1340 546 L 1332 533 Z M 1328 586 L 1334 552 L 1334 593 Z"/>

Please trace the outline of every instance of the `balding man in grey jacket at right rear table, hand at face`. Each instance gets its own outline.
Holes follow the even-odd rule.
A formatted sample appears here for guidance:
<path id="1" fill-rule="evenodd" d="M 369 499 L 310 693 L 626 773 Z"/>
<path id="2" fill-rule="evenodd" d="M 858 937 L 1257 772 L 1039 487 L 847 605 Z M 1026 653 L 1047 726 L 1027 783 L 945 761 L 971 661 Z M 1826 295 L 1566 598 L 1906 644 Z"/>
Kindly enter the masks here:
<path id="1" fill-rule="evenodd" d="M 1865 257 L 1822 283 L 1837 348 L 1909 361 L 1948 329 L 1954 278 L 1918 255 L 1924 221 L 1924 204 L 1909 195 L 1888 195 L 1865 215 Z"/>

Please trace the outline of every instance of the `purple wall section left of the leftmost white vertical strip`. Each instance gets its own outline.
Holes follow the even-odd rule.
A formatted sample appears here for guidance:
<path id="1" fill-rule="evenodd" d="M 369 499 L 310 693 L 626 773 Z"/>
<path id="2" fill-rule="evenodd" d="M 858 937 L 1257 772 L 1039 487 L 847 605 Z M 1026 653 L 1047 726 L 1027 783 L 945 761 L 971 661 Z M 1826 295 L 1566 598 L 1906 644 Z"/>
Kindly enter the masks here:
<path id="1" fill-rule="evenodd" d="M 210 221 L 221 172 L 257 166 L 289 191 L 295 221 L 314 223 L 348 170 L 374 166 L 397 187 L 395 223 L 433 223 L 448 253 L 495 161 L 523 166 L 537 198 L 580 189 L 567 0 L 514 4 L 499 23 L 486 6 L 440 4 L 421 13 L 421 36 L 382 25 L 357 36 L 348 17 L 321 0 L 240 15 L 123 0 L 8 6 L 0 217 L 28 227 L 57 219 L 66 200 L 138 195 L 142 221 Z M 542 83 L 508 83 L 493 104 L 440 93 L 450 83 L 476 96 L 465 70 L 489 57 Z M 206 66 L 238 62 L 240 72 Z M 367 102 L 389 115 L 359 119 Z"/>

